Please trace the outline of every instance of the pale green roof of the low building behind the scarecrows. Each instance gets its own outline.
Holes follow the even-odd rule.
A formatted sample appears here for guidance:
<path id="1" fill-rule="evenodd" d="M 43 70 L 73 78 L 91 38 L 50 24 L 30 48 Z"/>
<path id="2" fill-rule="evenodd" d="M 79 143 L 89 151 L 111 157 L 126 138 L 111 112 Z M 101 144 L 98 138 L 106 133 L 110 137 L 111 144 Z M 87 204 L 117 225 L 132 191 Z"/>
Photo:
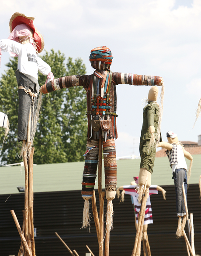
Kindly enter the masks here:
<path id="1" fill-rule="evenodd" d="M 140 159 L 117 161 L 117 186 L 129 185 L 134 176 L 139 176 Z M 190 161 L 187 160 L 187 165 Z M 81 190 L 84 162 L 66 162 L 34 166 L 34 192 Z M 102 164 L 102 167 L 104 165 Z M 167 157 L 156 158 L 152 173 L 152 184 L 173 185 L 172 169 Z M 198 184 L 201 175 L 201 155 L 193 155 L 193 167 L 189 184 Z M 95 189 L 97 189 L 97 183 Z M 24 167 L 0 167 L 0 195 L 19 193 L 24 187 Z M 104 169 L 102 168 L 104 188 Z"/>

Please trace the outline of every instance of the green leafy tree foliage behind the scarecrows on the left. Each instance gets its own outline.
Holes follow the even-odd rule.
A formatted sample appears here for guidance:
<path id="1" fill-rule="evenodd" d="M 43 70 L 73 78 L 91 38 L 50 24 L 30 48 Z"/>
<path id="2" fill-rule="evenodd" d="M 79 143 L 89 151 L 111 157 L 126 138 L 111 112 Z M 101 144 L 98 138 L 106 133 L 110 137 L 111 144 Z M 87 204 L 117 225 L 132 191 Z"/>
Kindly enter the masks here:
<path id="1" fill-rule="evenodd" d="M 60 51 L 45 52 L 41 57 L 51 68 L 55 78 L 83 75 L 86 66 L 80 58 L 68 58 Z M 1 152 L 3 164 L 19 162 L 21 143 L 17 142 L 18 95 L 14 70 L 17 58 L 11 58 L 6 74 L 0 80 L 0 111 L 8 115 L 10 132 Z M 38 82 L 42 86 L 46 77 L 41 73 Z M 36 164 L 75 162 L 83 160 L 87 137 L 87 99 L 83 87 L 71 87 L 42 96 L 42 109 L 34 139 Z M 3 129 L 0 141 L 3 141 Z"/>

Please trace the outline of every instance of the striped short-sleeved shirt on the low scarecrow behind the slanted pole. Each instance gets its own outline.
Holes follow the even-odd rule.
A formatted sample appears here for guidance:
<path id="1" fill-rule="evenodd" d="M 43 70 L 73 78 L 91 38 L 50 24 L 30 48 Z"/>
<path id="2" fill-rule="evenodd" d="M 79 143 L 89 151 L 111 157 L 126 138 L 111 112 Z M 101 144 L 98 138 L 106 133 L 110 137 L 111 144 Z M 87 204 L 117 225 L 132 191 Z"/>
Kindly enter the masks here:
<path id="1" fill-rule="evenodd" d="M 147 198 L 147 202 L 146 202 L 144 225 L 153 223 L 150 195 L 158 194 L 158 190 L 156 189 L 156 187 L 157 185 L 151 185 L 149 187 L 149 197 Z M 136 222 L 138 223 L 141 204 L 138 202 L 137 186 L 133 186 L 133 185 L 124 186 L 124 190 L 125 190 L 125 194 L 131 195 L 131 201 L 135 209 Z"/>

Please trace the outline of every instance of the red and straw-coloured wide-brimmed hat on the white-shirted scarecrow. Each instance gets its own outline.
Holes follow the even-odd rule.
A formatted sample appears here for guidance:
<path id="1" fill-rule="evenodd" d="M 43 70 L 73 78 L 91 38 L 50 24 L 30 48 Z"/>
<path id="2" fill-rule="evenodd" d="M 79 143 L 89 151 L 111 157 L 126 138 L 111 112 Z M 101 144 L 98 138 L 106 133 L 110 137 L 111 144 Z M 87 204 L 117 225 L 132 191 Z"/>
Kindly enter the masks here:
<path id="1" fill-rule="evenodd" d="M 38 30 L 35 28 L 33 22 L 34 22 L 33 17 L 27 17 L 22 13 L 15 12 L 10 18 L 10 22 L 9 22 L 10 33 L 13 31 L 13 29 L 17 25 L 20 25 L 20 24 L 28 25 L 30 29 L 33 31 L 34 41 L 36 43 L 38 53 L 40 53 L 44 48 L 44 40 L 40 32 L 38 32 Z"/>

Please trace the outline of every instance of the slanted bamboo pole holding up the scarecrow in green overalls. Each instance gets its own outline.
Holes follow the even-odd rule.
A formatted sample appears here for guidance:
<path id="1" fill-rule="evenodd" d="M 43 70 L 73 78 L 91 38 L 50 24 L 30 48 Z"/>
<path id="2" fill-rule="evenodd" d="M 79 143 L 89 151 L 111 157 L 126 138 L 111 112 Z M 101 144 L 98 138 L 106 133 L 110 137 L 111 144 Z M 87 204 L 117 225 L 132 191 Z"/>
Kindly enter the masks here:
<path id="1" fill-rule="evenodd" d="M 139 253 L 139 249 L 141 246 L 141 237 L 142 237 L 142 230 L 143 230 L 144 218 L 145 218 L 146 201 L 147 201 L 148 195 L 149 195 L 149 188 L 147 188 L 145 190 L 145 195 L 142 195 L 142 202 L 141 202 L 141 208 L 140 208 L 139 219 L 138 219 L 138 229 L 137 229 L 136 236 L 135 236 L 135 244 L 134 244 L 134 248 L 132 251 L 132 256 L 136 256 L 137 253 Z"/>

